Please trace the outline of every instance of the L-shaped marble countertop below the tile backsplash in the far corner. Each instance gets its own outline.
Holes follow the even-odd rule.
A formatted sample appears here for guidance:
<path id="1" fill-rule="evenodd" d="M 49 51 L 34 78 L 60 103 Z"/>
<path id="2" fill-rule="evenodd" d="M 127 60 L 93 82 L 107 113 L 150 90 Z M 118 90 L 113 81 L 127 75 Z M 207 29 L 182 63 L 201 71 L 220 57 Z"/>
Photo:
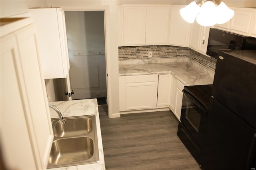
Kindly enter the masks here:
<path id="1" fill-rule="evenodd" d="M 119 64 L 119 76 L 171 73 L 184 85 L 205 85 L 213 83 L 214 72 L 188 58 L 163 61 L 122 62 Z"/>

